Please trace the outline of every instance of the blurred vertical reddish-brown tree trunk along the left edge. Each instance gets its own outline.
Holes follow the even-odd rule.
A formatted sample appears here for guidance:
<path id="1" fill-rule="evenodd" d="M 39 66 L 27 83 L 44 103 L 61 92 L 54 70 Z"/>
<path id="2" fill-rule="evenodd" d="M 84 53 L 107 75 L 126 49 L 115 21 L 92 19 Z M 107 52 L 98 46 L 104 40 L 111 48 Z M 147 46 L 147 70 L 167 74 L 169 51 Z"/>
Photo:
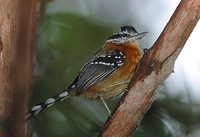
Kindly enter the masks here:
<path id="1" fill-rule="evenodd" d="M 0 136 L 24 137 L 37 0 L 0 0 Z"/>

